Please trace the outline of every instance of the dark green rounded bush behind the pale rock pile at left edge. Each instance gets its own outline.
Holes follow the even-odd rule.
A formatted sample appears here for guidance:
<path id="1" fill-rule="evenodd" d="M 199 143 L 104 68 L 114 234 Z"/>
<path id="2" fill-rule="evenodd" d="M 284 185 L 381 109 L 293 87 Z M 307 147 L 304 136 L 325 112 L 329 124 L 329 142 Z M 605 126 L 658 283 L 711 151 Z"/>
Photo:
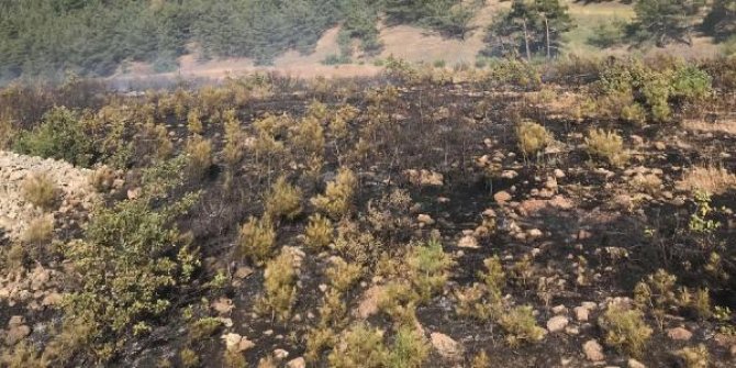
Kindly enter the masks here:
<path id="1" fill-rule="evenodd" d="M 66 108 L 51 110 L 35 129 L 21 132 L 13 149 L 80 166 L 90 165 L 94 154 L 92 140 L 85 131 L 83 122 Z"/>

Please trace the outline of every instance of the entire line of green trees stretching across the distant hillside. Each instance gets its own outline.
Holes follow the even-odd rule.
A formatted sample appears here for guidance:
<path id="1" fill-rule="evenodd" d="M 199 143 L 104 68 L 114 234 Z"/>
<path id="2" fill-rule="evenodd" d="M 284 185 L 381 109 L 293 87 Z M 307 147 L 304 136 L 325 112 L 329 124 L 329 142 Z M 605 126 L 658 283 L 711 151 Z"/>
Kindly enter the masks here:
<path id="1" fill-rule="evenodd" d="M 381 49 L 378 20 L 414 24 L 462 38 L 483 0 L 0 0 L 0 82 L 66 73 L 107 76 L 127 62 L 174 70 L 197 45 L 202 58 L 250 57 L 269 64 L 287 49 L 309 53 L 342 24 L 344 58 L 357 43 Z M 601 29 L 591 42 L 690 42 L 700 29 L 727 40 L 736 30 L 734 0 L 635 0 L 636 19 Z M 487 55 L 551 57 L 576 26 L 560 0 L 513 0 L 488 29 Z"/>

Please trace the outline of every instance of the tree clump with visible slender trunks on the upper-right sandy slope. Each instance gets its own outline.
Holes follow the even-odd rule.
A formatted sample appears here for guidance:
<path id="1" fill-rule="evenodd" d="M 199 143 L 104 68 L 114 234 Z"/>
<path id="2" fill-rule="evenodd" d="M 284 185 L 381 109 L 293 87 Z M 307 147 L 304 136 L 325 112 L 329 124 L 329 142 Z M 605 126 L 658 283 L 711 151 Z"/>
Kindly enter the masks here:
<path id="1" fill-rule="evenodd" d="M 499 14 L 489 27 L 483 54 L 557 55 L 562 35 L 575 27 L 568 7 L 559 0 L 514 0 L 511 10 Z"/>

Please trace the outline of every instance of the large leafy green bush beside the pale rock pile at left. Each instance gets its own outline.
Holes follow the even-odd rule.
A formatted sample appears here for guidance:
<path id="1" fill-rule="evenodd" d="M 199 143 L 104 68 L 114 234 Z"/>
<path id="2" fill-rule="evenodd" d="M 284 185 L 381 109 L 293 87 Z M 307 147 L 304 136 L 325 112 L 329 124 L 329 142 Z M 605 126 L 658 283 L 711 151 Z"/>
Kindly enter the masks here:
<path id="1" fill-rule="evenodd" d="M 90 335 L 101 345 L 124 338 L 133 325 L 156 323 L 199 266 L 187 236 L 174 225 L 198 196 L 152 204 L 181 182 L 181 166 L 179 159 L 148 170 L 140 198 L 96 208 L 83 237 L 63 248 L 81 286 L 66 298 L 66 315 L 92 326 Z M 98 356 L 109 353 L 103 346 L 96 348 Z"/>

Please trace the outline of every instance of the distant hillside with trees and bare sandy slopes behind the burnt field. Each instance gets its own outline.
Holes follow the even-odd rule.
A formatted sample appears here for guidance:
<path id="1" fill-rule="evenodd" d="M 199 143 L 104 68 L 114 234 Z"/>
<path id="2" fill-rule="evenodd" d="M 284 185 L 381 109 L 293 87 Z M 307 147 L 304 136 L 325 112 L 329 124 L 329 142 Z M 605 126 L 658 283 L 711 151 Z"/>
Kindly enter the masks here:
<path id="1" fill-rule="evenodd" d="M 678 3 L 660 3 L 668 2 Z M 690 10 L 687 24 L 671 25 L 684 35 L 661 35 L 647 29 L 658 21 L 644 15 L 680 9 L 637 8 L 643 0 L 0 0 L 0 83 L 68 73 L 366 75 L 390 55 L 472 65 L 479 54 L 524 56 L 524 20 L 533 54 L 544 56 L 548 18 L 555 55 L 655 49 L 712 56 L 721 52 L 713 40 L 729 45 L 736 29 L 729 8 L 718 5 L 727 1 L 712 2 Z M 668 42 L 657 46 L 663 47 L 644 42 L 662 37 Z"/>

